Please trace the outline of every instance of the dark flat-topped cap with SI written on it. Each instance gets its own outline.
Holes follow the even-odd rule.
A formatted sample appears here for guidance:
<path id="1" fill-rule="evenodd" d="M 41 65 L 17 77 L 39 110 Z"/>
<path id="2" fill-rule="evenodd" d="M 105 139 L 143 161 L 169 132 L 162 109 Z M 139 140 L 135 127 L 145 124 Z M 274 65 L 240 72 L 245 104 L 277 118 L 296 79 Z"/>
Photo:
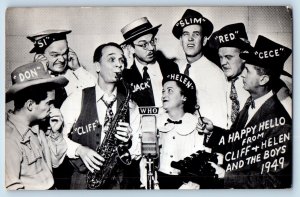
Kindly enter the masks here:
<path id="1" fill-rule="evenodd" d="M 53 42 L 58 40 L 66 40 L 67 34 L 71 33 L 71 30 L 55 30 L 50 29 L 40 33 L 32 34 L 27 36 L 34 44 L 34 48 L 31 49 L 30 53 L 44 52 L 45 49 Z"/>

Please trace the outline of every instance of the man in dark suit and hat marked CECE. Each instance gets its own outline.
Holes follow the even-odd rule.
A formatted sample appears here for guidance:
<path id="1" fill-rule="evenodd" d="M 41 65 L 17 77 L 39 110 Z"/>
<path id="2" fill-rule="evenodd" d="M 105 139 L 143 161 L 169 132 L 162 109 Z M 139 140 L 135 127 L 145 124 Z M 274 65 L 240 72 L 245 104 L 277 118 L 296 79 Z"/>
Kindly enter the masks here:
<path id="1" fill-rule="evenodd" d="M 216 166 L 225 188 L 289 188 L 292 181 L 292 120 L 272 89 L 291 50 L 264 36 L 240 54 L 244 89 L 251 95 L 229 131 L 213 128 L 207 145 L 224 153 Z M 275 83 L 274 83 L 275 82 Z M 251 107 L 250 107 L 251 106 Z M 276 154 L 274 154 L 276 152 Z"/>

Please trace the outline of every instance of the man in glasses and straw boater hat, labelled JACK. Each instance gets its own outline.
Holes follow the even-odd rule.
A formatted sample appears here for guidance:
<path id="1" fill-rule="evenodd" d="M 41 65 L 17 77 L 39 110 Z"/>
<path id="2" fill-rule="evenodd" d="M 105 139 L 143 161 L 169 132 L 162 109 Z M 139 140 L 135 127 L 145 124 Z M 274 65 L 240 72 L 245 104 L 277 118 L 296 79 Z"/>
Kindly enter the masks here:
<path id="1" fill-rule="evenodd" d="M 121 29 L 125 41 L 121 45 L 134 53 L 132 65 L 124 75 L 132 88 L 132 98 L 139 106 L 162 106 L 161 82 L 178 66 L 156 50 L 156 34 L 161 25 L 152 26 L 147 17 L 139 18 Z"/>

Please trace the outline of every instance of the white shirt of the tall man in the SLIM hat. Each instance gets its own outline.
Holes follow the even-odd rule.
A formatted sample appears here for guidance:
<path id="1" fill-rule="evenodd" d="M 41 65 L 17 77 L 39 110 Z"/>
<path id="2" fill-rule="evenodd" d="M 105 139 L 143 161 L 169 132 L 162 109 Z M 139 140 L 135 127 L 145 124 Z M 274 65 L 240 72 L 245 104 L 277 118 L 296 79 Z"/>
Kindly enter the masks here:
<path id="1" fill-rule="evenodd" d="M 187 60 L 178 61 L 178 65 L 180 73 L 184 73 Z M 227 125 L 226 78 L 222 70 L 202 56 L 191 64 L 189 77 L 196 84 L 201 116 L 225 129 Z"/>

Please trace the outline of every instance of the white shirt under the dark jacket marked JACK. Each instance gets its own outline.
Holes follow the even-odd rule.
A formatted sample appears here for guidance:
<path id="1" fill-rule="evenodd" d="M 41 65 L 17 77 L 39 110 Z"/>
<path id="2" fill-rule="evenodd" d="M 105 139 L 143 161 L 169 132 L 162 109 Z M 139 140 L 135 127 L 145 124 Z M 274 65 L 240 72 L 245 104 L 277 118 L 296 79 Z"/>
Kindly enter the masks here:
<path id="1" fill-rule="evenodd" d="M 153 90 L 153 95 L 154 95 L 155 106 L 162 107 L 161 97 L 162 97 L 163 76 L 162 76 L 158 62 L 155 61 L 154 64 L 143 65 L 137 59 L 135 59 L 135 64 L 142 76 L 144 73 L 143 68 L 145 66 L 147 66 L 147 68 L 148 68 L 147 72 L 151 79 L 151 85 L 152 85 L 152 90 Z"/>

